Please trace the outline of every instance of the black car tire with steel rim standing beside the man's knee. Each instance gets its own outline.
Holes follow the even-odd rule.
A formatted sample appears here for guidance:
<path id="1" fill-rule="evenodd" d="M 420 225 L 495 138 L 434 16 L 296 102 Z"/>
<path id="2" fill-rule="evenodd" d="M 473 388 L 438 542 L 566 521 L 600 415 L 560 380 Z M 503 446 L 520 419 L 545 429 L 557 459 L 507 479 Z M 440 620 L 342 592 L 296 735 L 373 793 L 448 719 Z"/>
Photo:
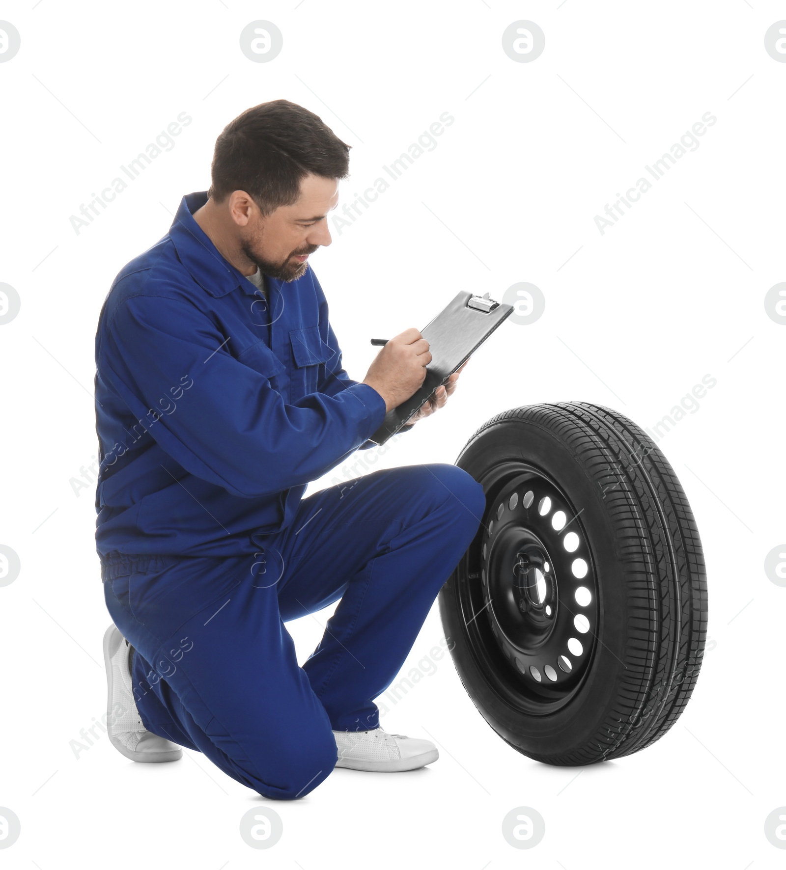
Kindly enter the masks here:
<path id="1" fill-rule="evenodd" d="M 440 616 L 484 719 L 553 765 L 659 740 L 693 692 L 707 626 L 702 543 L 660 449 L 609 408 L 531 405 L 481 426 L 456 465 L 483 485 L 487 508 L 440 591 Z M 568 532 L 579 540 L 572 552 Z M 578 586 L 589 604 L 576 602 Z M 570 640 L 579 645 L 568 650 Z"/>

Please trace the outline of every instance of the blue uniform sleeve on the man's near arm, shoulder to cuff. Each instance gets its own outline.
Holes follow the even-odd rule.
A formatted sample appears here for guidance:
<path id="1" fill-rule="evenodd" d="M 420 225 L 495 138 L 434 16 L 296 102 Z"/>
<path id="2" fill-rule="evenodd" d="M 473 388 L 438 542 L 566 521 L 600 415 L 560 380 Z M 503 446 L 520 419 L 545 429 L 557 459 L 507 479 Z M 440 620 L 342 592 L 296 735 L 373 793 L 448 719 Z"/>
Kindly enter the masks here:
<path id="1" fill-rule="evenodd" d="M 233 495 L 259 497 L 321 477 L 385 418 L 380 393 L 354 382 L 286 405 L 265 375 L 232 356 L 231 343 L 185 300 L 136 296 L 118 307 L 99 359 L 162 449 Z"/>

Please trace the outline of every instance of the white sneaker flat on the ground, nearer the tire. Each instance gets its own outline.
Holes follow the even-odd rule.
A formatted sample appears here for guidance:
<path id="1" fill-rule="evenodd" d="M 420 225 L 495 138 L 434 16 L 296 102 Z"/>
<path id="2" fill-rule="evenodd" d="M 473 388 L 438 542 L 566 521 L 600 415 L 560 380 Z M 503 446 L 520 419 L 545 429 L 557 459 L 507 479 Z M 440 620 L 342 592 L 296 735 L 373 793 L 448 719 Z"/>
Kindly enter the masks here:
<path id="1" fill-rule="evenodd" d="M 334 731 L 339 750 L 337 767 L 367 770 L 373 773 L 415 770 L 440 757 L 437 747 L 428 740 L 415 740 L 405 734 L 388 734 L 381 728 L 373 731 Z"/>

